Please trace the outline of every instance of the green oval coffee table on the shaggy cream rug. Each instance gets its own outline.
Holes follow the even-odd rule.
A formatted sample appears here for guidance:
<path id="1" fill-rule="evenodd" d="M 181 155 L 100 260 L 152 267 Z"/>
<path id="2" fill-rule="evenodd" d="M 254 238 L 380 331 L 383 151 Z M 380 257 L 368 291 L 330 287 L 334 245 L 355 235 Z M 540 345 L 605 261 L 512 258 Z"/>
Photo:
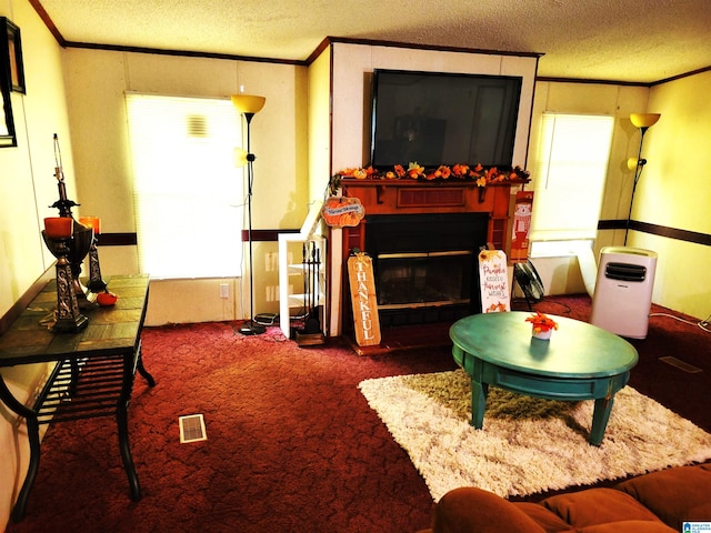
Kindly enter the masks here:
<path id="1" fill-rule="evenodd" d="M 589 441 L 599 445 L 614 394 L 639 359 L 622 338 L 598 326 L 550 315 L 550 341 L 531 336 L 530 313 L 474 314 L 450 329 L 452 355 L 471 375 L 471 425 L 481 429 L 489 386 L 550 400 L 594 400 Z"/>

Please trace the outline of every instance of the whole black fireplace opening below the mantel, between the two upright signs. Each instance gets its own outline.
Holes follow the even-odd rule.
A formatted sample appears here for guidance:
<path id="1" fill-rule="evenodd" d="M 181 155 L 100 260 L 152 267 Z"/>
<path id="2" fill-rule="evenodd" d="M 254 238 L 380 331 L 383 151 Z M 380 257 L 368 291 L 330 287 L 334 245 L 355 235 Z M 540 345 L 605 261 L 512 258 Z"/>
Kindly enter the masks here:
<path id="1" fill-rule="evenodd" d="M 381 328 L 481 312 L 477 257 L 488 223 L 488 213 L 367 215 Z"/>

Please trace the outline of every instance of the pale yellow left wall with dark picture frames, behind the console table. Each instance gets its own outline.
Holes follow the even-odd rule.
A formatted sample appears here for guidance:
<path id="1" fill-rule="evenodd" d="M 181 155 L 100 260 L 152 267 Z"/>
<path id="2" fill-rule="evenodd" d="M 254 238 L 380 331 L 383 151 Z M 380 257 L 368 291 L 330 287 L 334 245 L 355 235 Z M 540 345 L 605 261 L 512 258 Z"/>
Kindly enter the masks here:
<path id="1" fill-rule="evenodd" d="M 61 141 L 64 171 L 73 174 L 72 143 L 62 78 L 62 50 L 26 0 L 0 0 L 0 16 L 20 28 L 27 94 L 12 93 L 18 145 L 0 149 L 0 315 L 53 263 L 41 221 L 57 215 L 52 135 Z M 76 198 L 73 182 L 68 194 Z M 2 369 L 18 400 L 29 404 L 48 371 L 44 364 Z M 0 531 L 20 490 L 29 457 L 23 419 L 0 403 Z"/>

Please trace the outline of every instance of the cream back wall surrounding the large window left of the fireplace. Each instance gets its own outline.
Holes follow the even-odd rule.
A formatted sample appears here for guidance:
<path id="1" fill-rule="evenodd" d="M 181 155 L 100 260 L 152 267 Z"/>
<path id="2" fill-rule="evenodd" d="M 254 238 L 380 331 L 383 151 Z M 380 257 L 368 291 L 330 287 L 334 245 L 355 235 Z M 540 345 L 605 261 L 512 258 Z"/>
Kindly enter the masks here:
<path id="1" fill-rule="evenodd" d="M 228 97 L 242 87 L 247 93 L 267 98 L 251 125 L 252 151 L 257 154 L 252 225 L 301 227 L 309 204 L 304 67 L 79 49 L 67 50 L 66 63 L 78 195 L 84 213 L 101 217 L 103 233 L 136 231 L 126 91 Z M 199 175 L 194 187 L 200 187 Z M 242 217 L 246 221 L 243 213 Z M 242 243 L 224 242 L 224 245 Z M 253 249 L 254 310 L 278 312 L 277 243 L 256 242 Z M 136 247 L 100 247 L 99 254 L 102 273 L 139 270 Z M 189 244 L 186 260 L 200 261 L 190 254 Z M 151 291 L 147 324 L 247 318 L 250 309 L 247 261 L 243 268 L 246 275 L 237 280 L 152 282 L 156 290 Z M 227 301 L 220 298 L 222 283 L 231 288 Z"/>

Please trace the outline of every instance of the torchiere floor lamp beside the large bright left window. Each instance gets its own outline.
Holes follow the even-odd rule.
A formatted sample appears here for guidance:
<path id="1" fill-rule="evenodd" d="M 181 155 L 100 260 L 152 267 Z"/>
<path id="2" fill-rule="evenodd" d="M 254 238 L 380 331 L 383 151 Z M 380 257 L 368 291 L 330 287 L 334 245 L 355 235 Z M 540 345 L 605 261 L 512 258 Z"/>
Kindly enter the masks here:
<path id="1" fill-rule="evenodd" d="M 254 269 L 252 262 L 252 184 L 254 181 L 254 154 L 251 152 L 250 145 L 250 124 L 252 118 L 264 107 L 264 97 L 254 97 L 251 94 L 232 94 L 232 103 L 237 110 L 244 115 L 247 120 L 247 218 L 248 230 L 247 239 L 249 241 L 249 321 L 240 328 L 243 335 L 259 335 L 267 331 L 261 324 L 254 322 Z"/>

